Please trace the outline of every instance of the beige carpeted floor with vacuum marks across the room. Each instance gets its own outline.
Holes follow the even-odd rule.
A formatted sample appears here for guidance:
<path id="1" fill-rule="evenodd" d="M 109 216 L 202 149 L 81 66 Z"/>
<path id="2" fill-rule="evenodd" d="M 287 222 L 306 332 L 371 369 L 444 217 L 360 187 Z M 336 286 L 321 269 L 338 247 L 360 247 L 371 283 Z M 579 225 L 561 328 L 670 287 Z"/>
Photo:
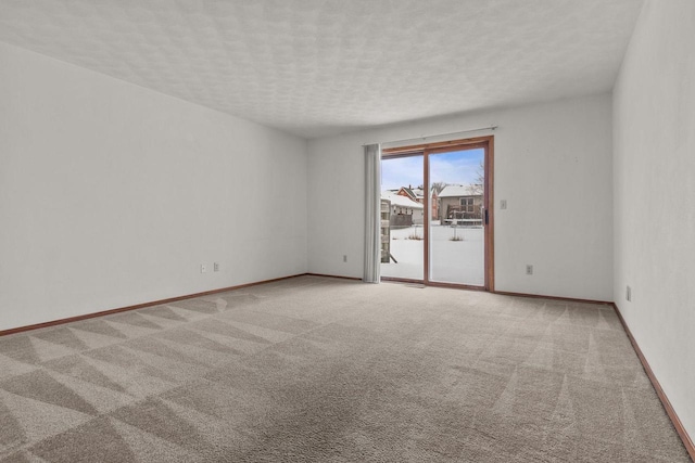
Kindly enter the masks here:
<path id="1" fill-rule="evenodd" d="M 5 462 L 687 462 L 609 306 L 301 276 L 0 337 Z"/>

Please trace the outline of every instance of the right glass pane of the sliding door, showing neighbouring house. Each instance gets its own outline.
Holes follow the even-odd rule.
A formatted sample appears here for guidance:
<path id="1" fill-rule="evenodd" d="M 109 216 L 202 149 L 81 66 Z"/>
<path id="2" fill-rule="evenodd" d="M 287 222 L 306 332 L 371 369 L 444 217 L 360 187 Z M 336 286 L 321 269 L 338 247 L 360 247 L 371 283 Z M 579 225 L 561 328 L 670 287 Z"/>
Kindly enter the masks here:
<path id="1" fill-rule="evenodd" d="M 484 286 L 483 149 L 429 155 L 429 280 Z"/>

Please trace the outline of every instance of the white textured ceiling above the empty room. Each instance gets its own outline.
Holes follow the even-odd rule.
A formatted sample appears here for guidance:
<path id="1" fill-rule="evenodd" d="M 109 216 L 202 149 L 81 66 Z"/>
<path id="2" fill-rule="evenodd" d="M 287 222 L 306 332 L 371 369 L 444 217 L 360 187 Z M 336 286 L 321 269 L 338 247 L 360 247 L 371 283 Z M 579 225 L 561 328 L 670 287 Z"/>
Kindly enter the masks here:
<path id="1" fill-rule="evenodd" d="M 607 91 L 642 0 L 0 0 L 0 40 L 303 137 Z"/>

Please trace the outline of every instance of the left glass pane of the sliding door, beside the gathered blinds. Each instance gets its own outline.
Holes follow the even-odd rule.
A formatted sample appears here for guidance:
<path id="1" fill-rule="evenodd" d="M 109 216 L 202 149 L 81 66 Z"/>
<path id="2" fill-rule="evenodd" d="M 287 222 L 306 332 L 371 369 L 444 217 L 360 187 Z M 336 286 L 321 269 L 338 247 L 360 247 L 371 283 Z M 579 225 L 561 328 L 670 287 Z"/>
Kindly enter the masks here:
<path id="1" fill-rule="evenodd" d="M 381 159 L 381 276 L 424 279 L 422 159 Z"/>

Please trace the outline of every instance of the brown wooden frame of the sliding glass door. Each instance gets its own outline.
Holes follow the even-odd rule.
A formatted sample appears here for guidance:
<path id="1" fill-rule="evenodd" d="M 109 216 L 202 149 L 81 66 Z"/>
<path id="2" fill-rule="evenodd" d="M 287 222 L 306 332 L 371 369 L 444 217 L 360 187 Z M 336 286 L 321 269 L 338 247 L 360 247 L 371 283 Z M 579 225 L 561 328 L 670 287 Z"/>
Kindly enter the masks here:
<path id="1" fill-rule="evenodd" d="M 431 200 L 430 200 L 430 154 L 439 154 L 439 153 L 447 153 L 452 151 L 458 150 L 475 150 L 475 149 L 483 149 L 483 175 L 485 176 L 485 182 L 483 188 L 483 207 L 485 214 L 488 215 L 488 221 L 484 228 L 484 246 L 485 246 L 485 255 L 484 255 L 484 283 L 483 286 L 471 286 L 466 284 L 456 284 L 456 283 L 442 283 L 442 282 L 433 282 L 430 281 L 430 248 L 429 248 L 429 230 L 430 230 L 430 220 L 431 213 Z M 425 198 L 424 202 L 424 237 L 425 237 L 425 265 L 422 269 L 422 283 L 428 286 L 442 286 L 442 287 L 456 287 L 456 288 L 467 288 L 467 290 L 482 290 L 494 292 L 494 207 L 492 207 L 494 203 L 493 197 L 493 172 L 494 172 L 494 136 L 486 137 L 476 137 L 470 139 L 462 139 L 462 140 L 451 140 L 444 142 L 435 142 L 435 143 L 424 143 L 417 145 L 408 145 L 408 146 L 399 146 L 399 147 L 389 147 L 383 149 L 381 151 L 382 157 L 384 158 L 394 158 L 394 157 L 406 157 L 406 156 L 422 156 L 424 163 L 424 176 L 425 179 L 422 181 L 422 187 L 425 190 Z M 485 220 L 485 218 L 482 218 Z M 407 279 L 393 279 L 386 278 L 384 280 L 392 281 L 406 281 L 413 282 L 414 280 Z M 419 282 L 419 280 L 418 280 Z"/>

